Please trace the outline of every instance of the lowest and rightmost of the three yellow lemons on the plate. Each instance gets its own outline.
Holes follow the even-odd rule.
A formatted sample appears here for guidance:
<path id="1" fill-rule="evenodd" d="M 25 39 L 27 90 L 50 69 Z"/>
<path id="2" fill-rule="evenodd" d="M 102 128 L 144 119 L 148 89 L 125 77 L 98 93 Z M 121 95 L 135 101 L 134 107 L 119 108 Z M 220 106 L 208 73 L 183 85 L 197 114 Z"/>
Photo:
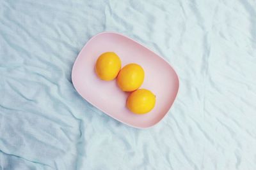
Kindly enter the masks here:
<path id="1" fill-rule="evenodd" d="M 130 94 L 126 106 L 133 113 L 144 114 L 151 111 L 156 104 L 156 96 L 150 90 L 139 89 Z"/>

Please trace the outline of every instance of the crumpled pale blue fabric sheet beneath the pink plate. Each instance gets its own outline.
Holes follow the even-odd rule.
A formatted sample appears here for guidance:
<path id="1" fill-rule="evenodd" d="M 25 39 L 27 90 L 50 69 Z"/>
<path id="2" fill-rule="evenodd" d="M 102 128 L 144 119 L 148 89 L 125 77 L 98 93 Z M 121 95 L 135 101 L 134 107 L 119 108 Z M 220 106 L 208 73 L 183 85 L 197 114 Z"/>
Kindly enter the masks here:
<path id="1" fill-rule="evenodd" d="M 0 16 L 0 169 L 256 169 L 255 1 L 1 0 Z M 102 31 L 179 74 L 155 127 L 117 122 L 74 89 L 74 60 Z"/>

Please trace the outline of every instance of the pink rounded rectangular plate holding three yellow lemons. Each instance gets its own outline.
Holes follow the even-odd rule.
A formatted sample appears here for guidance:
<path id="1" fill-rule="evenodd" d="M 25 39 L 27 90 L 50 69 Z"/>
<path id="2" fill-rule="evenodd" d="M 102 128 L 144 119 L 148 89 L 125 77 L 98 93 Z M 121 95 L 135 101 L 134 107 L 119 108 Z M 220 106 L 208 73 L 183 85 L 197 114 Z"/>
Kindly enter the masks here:
<path id="1" fill-rule="evenodd" d="M 122 92 L 116 81 L 102 81 L 94 71 L 101 53 L 115 52 L 122 67 L 137 63 L 145 71 L 141 89 L 156 94 L 155 108 L 145 115 L 136 115 L 125 107 L 129 93 Z M 157 124 L 173 104 L 179 89 L 179 79 L 172 66 L 156 53 L 136 41 L 115 32 L 102 32 L 93 36 L 79 53 L 72 69 L 72 81 L 77 92 L 110 117 L 137 128 Z"/>

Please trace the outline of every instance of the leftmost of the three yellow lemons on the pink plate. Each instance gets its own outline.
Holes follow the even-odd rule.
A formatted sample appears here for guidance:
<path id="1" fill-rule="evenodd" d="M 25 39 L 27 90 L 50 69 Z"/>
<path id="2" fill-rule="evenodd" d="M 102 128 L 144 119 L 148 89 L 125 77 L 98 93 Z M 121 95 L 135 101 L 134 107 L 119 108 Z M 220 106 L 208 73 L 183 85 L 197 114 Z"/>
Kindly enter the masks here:
<path id="1" fill-rule="evenodd" d="M 121 60 L 114 52 L 105 52 L 100 55 L 95 65 L 95 72 L 100 79 L 114 80 L 121 69 Z"/>

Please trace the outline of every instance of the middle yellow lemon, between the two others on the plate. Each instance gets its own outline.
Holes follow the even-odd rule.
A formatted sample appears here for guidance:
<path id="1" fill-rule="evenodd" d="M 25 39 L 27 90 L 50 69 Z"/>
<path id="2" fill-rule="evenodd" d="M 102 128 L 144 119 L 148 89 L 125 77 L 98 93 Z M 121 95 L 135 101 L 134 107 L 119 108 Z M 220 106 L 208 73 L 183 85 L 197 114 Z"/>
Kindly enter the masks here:
<path id="1" fill-rule="evenodd" d="M 144 81 L 144 71 L 138 64 L 127 64 L 117 76 L 117 84 L 125 92 L 138 89 Z"/>

